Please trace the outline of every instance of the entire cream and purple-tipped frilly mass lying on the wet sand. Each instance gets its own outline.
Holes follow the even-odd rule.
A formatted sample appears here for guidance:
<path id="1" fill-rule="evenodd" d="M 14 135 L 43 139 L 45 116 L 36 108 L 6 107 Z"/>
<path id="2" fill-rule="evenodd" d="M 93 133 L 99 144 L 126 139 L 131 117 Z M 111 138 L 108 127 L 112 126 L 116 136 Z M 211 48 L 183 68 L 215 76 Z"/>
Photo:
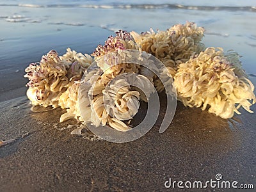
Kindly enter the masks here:
<path id="1" fill-rule="evenodd" d="M 95 126 L 109 125 L 127 131 L 131 129 L 129 120 L 140 108 L 140 100 L 147 102 L 148 95 L 154 92 L 148 82 L 161 92 L 164 86 L 160 79 L 170 81 L 173 77 L 177 97 L 185 106 L 202 107 L 222 118 L 230 118 L 234 112 L 239 114 L 241 106 L 252 112 L 250 106 L 256 100 L 254 87 L 246 79 L 239 55 L 234 51 L 224 54 L 221 48 L 205 49 L 203 36 L 204 28 L 193 22 L 141 34 L 120 30 L 92 53 L 93 67 L 93 58 L 88 54 L 69 48 L 63 56 L 50 51 L 40 63 L 31 63 L 25 70 L 29 79 L 28 98 L 35 106 L 67 109 L 60 122 L 77 118 Z M 140 51 L 156 56 L 166 68 L 157 69 L 148 60 L 148 54 Z M 134 58 L 134 62 L 125 62 L 127 57 Z M 148 68 L 136 65 L 136 60 Z M 150 71 L 154 67 L 159 70 L 160 79 Z M 115 80 L 125 73 L 140 75 Z M 131 86 L 131 81 L 141 84 L 144 93 Z"/>

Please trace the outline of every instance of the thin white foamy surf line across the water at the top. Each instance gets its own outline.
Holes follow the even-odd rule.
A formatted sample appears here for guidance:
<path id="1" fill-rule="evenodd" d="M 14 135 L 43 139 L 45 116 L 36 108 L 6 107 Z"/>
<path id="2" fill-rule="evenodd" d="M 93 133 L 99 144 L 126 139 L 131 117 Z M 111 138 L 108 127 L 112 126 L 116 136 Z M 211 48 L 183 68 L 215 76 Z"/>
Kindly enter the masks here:
<path id="1" fill-rule="evenodd" d="M 0 4 L 28 8 L 99 8 L 99 9 L 184 9 L 207 11 L 256 12 L 256 6 L 189 6 L 182 4 Z"/>

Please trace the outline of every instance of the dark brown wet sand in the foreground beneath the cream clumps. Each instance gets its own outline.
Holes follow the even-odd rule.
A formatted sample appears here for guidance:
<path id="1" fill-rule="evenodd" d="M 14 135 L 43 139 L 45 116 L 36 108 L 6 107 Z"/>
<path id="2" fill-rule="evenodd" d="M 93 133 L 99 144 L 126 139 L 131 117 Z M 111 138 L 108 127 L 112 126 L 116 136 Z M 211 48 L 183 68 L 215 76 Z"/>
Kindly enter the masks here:
<path id="1" fill-rule="evenodd" d="M 256 119 L 245 111 L 232 124 L 179 102 L 163 134 L 160 119 L 139 140 L 109 143 L 58 130 L 75 123 L 54 126 L 60 109 L 32 113 L 29 107 L 26 97 L 0 103 L 0 139 L 17 138 L 0 147 L 0 191 L 164 191 L 170 177 L 206 181 L 217 173 L 255 184 Z"/>

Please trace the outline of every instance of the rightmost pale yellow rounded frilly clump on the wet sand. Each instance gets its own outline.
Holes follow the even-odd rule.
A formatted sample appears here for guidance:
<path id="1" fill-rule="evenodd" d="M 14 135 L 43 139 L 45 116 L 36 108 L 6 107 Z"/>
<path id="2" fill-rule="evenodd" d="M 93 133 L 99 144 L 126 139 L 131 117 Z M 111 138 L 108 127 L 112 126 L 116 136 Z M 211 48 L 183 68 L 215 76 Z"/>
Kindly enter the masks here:
<path id="1" fill-rule="evenodd" d="M 209 47 L 179 65 L 174 84 L 185 106 L 202 107 L 222 118 L 230 118 L 234 112 L 240 114 L 237 109 L 241 106 L 252 113 L 250 106 L 256 100 L 253 84 L 241 76 L 239 66 L 234 67 L 232 61 L 236 58 L 232 55 Z"/>

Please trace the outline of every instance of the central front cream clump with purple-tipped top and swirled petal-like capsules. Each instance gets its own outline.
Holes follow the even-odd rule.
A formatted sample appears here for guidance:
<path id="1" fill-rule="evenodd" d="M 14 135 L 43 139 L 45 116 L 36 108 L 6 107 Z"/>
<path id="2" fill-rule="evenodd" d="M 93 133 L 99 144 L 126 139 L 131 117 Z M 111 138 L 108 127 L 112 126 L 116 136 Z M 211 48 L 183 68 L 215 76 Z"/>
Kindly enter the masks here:
<path id="1" fill-rule="evenodd" d="M 141 90 L 137 88 L 142 88 L 143 94 L 147 95 L 154 91 L 148 86 L 147 77 L 129 76 L 140 73 L 137 60 L 145 65 L 148 63 L 146 54 L 131 52 L 138 49 L 129 33 L 118 31 L 115 37 L 110 36 L 104 46 L 99 45 L 93 52 L 95 67 L 86 71 L 80 87 L 80 111 L 85 116 L 84 122 L 96 127 L 108 125 L 118 131 L 131 129 L 129 122 L 138 112 L 140 100 L 147 101 L 145 95 L 140 98 Z"/>

